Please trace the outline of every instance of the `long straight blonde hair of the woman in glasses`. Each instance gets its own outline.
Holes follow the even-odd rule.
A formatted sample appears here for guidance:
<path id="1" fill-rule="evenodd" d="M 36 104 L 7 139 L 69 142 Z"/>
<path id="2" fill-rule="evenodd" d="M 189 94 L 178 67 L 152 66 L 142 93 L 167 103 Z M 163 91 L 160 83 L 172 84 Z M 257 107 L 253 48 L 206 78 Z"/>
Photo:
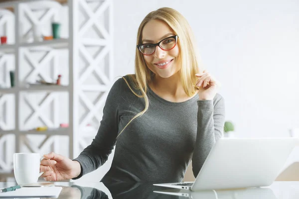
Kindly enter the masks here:
<path id="1" fill-rule="evenodd" d="M 181 61 L 180 79 L 183 86 L 183 90 L 188 97 L 191 97 L 196 92 L 196 87 L 194 86 L 197 78 L 195 74 L 199 73 L 199 55 L 195 47 L 195 38 L 192 33 L 191 27 L 187 20 L 175 9 L 169 7 L 162 7 L 157 10 L 150 12 L 144 20 L 141 22 L 138 33 L 137 33 L 137 45 L 142 43 L 142 31 L 145 25 L 150 20 L 161 20 L 169 25 L 169 27 L 178 35 L 178 46 L 179 46 L 179 59 Z M 154 73 L 149 70 L 147 64 L 143 58 L 143 54 L 136 48 L 135 56 L 135 75 L 128 75 L 130 82 L 133 83 L 134 89 L 141 92 L 138 95 L 134 92 L 133 88 L 130 86 L 126 78 L 123 77 L 130 90 L 139 98 L 144 98 L 146 106 L 143 111 L 135 115 L 129 123 L 124 127 L 120 134 L 125 130 L 125 128 L 137 117 L 143 115 L 149 108 L 149 98 L 147 96 L 147 87 L 154 77 Z M 119 135 L 120 135 L 119 134 Z M 118 136 L 119 136 L 118 135 Z"/>

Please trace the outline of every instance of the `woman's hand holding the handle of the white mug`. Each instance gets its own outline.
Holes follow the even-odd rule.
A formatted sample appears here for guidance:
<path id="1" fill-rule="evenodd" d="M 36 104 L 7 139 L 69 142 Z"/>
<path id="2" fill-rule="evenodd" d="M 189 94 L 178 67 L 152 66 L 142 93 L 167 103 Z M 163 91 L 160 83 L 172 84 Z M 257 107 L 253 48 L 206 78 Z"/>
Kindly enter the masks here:
<path id="1" fill-rule="evenodd" d="M 75 178 L 81 173 L 80 163 L 56 153 L 43 156 L 39 170 L 44 172 L 40 177 L 45 181 L 61 181 Z"/>

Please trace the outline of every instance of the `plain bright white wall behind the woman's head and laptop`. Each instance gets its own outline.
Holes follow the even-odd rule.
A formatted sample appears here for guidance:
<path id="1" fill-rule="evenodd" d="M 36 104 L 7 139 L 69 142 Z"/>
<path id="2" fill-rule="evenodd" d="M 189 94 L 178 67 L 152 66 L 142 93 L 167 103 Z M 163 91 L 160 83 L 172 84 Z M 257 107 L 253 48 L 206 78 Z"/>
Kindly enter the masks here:
<path id="1" fill-rule="evenodd" d="M 205 68 L 222 83 L 237 137 L 299 127 L 299 1 L 115 0 L 115 76 L 134 73 L 137 29 L 168 6 L 189 21 Z"/>

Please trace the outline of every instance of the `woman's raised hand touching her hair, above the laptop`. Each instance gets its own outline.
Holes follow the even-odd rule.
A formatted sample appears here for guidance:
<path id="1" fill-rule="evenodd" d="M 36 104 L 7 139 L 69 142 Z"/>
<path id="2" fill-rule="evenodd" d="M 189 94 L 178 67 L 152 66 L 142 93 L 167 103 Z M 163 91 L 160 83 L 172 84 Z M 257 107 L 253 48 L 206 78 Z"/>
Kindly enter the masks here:
<path id="1" fill-rule="evenodd" d="M 220 83 L 206 70 L 195 76 L 199 78 L 195 84 L 198 88 L 199 100 L 213 100 L 220 88 Z"/>

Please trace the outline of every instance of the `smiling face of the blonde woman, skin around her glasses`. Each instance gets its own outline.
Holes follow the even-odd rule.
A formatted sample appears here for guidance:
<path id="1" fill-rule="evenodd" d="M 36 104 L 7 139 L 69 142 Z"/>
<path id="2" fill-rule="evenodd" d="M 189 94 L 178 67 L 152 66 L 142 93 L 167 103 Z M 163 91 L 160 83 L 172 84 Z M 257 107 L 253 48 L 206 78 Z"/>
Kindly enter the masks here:
<path id="1" fill-rule="evenodd" d="M 143 44 L 155 44 L 167 37 L 175 35 L 175 33 L 167 23 L 160 20 L 150 20 L 144 26 L 142 35 Z M 171 50 L 162 50 L 159 46 L 156 46 L 153 54 L 143 56 L 149 70 L 156 76 L 169 78 L 176 74 L 181 68 L 181 64 L 178 61 L 178 55 L 179 47 L 176 44 Z"/>

